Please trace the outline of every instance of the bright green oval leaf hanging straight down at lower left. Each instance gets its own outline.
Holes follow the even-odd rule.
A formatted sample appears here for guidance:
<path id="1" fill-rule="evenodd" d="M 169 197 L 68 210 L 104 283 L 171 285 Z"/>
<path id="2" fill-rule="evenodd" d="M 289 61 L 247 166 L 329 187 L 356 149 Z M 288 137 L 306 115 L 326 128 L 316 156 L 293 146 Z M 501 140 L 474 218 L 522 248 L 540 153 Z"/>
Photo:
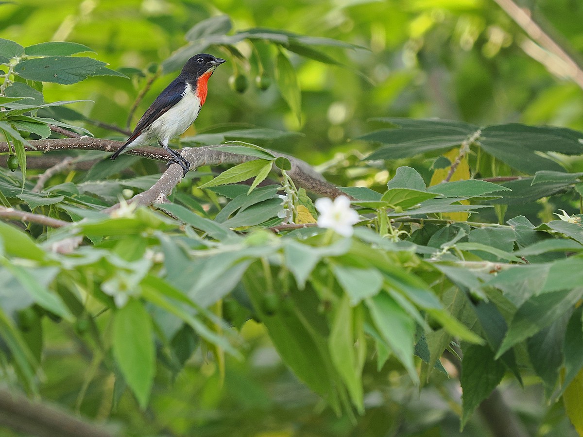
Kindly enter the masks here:
<path id="1" fill-rule="evenodd" d="M 156 363 L 150 315 L 136 299 L 130 299 L 127 305 L 115 312 L 113 355 L 125 382 L 136 395 L 140 407 L 145 409 Z"/>

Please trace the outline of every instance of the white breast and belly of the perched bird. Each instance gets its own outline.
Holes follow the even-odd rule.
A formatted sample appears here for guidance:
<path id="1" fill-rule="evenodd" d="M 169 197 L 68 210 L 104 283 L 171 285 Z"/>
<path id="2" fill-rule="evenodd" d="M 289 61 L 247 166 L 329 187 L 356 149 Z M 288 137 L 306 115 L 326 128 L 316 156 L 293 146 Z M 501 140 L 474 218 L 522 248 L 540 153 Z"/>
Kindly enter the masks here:
<path id="1" fill-rule="evenodd" d="M 147 129 L 161 140 L 170 140 L 188 129 L 201 111 L 201 101 L 187 83 L 182 99 Z"/>

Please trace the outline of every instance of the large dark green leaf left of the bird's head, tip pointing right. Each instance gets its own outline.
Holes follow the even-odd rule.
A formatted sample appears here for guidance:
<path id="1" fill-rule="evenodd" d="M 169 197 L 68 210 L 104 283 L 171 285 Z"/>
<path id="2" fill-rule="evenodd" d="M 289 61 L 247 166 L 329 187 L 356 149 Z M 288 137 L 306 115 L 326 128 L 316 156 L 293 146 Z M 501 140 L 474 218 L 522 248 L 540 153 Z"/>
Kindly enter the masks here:
<path id="1" fill-rule="evenodd" d="M 39 82 L 71 84 L 87 79 L 89 76 L 121 76 L 106 68 L 106 63 L 92 58 L 73 58 L 53 56 L 48 58 L 24 59 L 15 66 L 15 72 L 24 79 Z"/>

